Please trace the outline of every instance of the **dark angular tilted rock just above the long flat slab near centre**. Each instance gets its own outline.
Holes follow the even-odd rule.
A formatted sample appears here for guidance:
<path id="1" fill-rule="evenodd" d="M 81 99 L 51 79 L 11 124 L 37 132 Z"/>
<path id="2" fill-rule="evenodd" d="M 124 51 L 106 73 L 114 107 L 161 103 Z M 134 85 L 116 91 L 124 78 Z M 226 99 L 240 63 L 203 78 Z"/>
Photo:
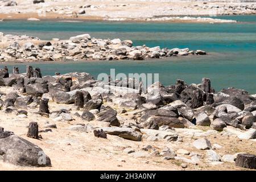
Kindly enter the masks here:
<path id="1" fill-rule="evenodd" d="M 120 126 L 120 123 L 117 119 L 117 111 L 112 108 L 101 111 L 97 114 L 98 121 L 109 122 L 112 126 Z"/>

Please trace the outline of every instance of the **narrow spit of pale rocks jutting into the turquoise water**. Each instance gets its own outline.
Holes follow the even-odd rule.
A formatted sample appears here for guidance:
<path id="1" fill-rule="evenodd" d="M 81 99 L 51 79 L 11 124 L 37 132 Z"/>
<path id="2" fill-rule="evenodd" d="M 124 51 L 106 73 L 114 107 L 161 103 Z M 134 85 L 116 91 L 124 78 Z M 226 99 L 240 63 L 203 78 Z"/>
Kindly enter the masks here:
<path id="1" fill-rule="evenodd" d="M 0 61 L 143 60 L 206 54 L 201 50 L 189 51 L 189 48 L 133 46 L 131 40 L 96 39 L 89 34 L 73 36 L 69 40 L 53 39 L 51 42 L 26 35 L 2 33 L 0 38 L 2 42 L 9 43 L 7 47 L 0 49 Z"/>

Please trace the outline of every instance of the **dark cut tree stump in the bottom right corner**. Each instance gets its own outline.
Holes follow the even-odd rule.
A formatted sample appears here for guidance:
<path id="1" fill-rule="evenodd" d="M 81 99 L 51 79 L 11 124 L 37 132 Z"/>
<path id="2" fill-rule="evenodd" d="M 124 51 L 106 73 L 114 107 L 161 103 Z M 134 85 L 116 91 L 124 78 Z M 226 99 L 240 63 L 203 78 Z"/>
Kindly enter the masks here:
<path id="1" fill-rule="evenodd" d="M 236 166 L 248 169 L 256 169 L 256 155 L 238 154 L 236 159 Z"/>

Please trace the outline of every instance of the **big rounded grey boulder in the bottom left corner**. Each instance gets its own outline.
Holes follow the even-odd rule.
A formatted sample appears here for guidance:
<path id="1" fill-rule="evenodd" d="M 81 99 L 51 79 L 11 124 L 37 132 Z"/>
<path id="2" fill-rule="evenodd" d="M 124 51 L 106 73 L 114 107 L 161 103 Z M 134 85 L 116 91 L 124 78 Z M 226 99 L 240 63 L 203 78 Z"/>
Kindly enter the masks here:
<path id="1" fill-rule="evenodd" d="M 0 151 L 0 160 L 3 162 L 19 166 L 51 166 L 51 160 L 42 148 L 17 135 L 0 139 Z"/>

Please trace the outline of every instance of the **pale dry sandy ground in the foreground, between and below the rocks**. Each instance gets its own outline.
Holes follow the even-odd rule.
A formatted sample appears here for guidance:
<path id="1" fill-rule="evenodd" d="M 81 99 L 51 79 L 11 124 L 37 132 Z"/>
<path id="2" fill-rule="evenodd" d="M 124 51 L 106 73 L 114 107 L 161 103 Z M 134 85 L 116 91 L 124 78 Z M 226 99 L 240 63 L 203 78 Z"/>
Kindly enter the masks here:
<path id="1" fill-rule="evenodd" d="M 1 87 L 1 92 L 10 92 L 12 89 Z M 62 108 L 72 109 L 72 113 L 76 112 L 73 105 L 60 105 L 53 102 L 49 103 L 49 109 L 59 110 Z M 77 131 L 68 130 L 68 127 L 77 123 L 90 123 L 90 125 L 101 127 L 106 126 L 105 122 L 84 122 L 80 118 L 74 117 L 71 122 L 54 122 L 51 118 L 41 117 L 40 115 L 31 114 L 36 109 L 28 109 L 28 118 L 19 118 L 15 114 L 4 114 L 0 111 L 0 126 L 7 131 L 13 131 L 16 135 L 29 140 L 30 142 L 41 147 L 44 152 L 51 158 L 52 167 L 33 168 L 33 167 L 18 167 L 11 164 L 0 162 L 0 170 L 247 170 L 236 167 L 234 163 L 223 163 L 213 166 L 205 162 L 205 154 L 207 151 L 197 150 L 192 146 L 192 142 L 200 137 L 183 137 L 183 142 L 134 142 L 119 138 L 117 136 L 108 135 L 108 139 L 96 138 L 93 133 L 80 133 Z M 121 118 L 127 118 L 128 122 L 134 122 L 129 115 L 119 115 Z M 53 132 L 40 133 L 43 137 L 41 140 L 31 139 L 26 137 L 28 123 L 31 121 L 38 122 L 40 129 L 48 121 L 56 123 L 57 129 L 52 129 Z M 39 129 L 39 130 L 40 130 Z M 203 130 L 208 130 L 208 127 L 203 127 Z M 256 145 L 253 140 L 240 140 L 237 137 L 228 137 L 222 133 L 210 134 L 207 137 L 212 144 L 220 144 L 223 148 L 216 149 L 219 155 L 236 154 L 237 152 L 249 152 L 255 154 Z M 181 160 L 163 160 L 160 156 L 150 156 L 146 158 L 134 158 L 123 152 L 127 147 L 134 148 L 135 151 L 141 151 L 141 148 L 150 144 L 151 146 L 163 150 L 165 147 L 173 148 L 177 151 L 179 148 L 196 152 L 202 156 L 201 162 L 195 164 L 187 164 L 188 168 L 180 167 Z M 184 158 L 190 158 L 181 155 Z"/>

